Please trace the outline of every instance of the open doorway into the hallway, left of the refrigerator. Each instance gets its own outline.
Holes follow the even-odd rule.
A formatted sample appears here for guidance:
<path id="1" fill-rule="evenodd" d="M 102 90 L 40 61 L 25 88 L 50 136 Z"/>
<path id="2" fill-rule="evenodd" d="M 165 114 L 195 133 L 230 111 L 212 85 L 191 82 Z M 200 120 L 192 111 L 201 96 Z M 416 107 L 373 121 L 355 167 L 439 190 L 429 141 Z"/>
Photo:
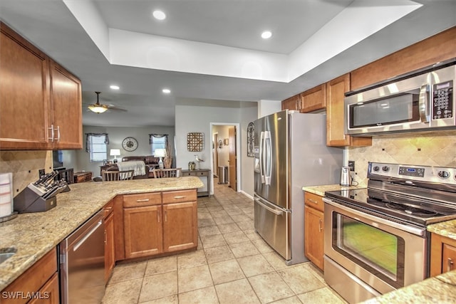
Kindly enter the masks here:
<path id="1" fill-rule="evenodd" d="M 239 191 L 239 124 L 211 123 L 212 185 Z M 212 187 L 214 189 L 214 187 Z"/>

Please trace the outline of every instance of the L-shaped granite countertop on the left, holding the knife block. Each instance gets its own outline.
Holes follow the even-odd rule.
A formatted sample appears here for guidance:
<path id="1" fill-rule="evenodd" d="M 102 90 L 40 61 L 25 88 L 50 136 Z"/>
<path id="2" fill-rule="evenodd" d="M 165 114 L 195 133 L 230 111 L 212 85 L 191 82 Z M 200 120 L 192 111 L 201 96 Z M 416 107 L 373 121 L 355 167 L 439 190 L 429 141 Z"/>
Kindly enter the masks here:
<path id="1" fill-rule="evenodd" d="M 121 182 L 70 184 L 57 195 L 57 205 L 46 212 L 19 214 L 0 223 L 0 248 L 17 252 L 0 263 L 0 290 L 66 238 L 118 194 L 161 192 L 204 187 L 198 177 L 133 179 Z"/>

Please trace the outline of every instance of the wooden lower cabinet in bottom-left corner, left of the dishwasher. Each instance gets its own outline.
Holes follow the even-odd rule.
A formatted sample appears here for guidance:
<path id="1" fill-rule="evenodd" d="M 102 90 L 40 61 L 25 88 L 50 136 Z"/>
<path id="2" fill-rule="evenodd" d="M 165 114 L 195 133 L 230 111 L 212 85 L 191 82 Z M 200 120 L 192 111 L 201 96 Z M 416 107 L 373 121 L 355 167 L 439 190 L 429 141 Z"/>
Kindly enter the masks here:
<path id="1" fill-rule="evenodd" d="M 58 304 L 57 250 L 52 249 L 19 278 L 1 290 L 2 304 Z M 9 295 L 9 296 L 7 296 Z"/>

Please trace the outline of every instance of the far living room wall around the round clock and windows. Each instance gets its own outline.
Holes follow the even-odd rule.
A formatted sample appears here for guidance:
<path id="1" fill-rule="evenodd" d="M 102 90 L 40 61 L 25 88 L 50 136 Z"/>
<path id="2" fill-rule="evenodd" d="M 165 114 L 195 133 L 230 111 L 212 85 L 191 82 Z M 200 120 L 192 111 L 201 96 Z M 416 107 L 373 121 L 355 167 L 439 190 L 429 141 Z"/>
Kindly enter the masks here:
<path id="1" fill-rule="evenodd" d="M 117 157 L 119 160 L 125 156 L 152 155 L 152 151 L 149 145 L 149 134 L 151 133 L 169 135 L 168 138 L 171 144 L 175 136 L 174 127 L 97 127 L 85 125 L 83 126 L 83 150 L 77 150 L 76 152 L 64 152 L 63 166 L 69 168 L 72 165 L 75 172 L 90 171 L 92 172 L 93 177 L 100 175 L 100 166 L 103 163 L 90 162 L 89 154 L 86 152 L 86 133 L 108 133 L 108 159 L 114 158 L 109 156 L 110 149 L 120 149 L 120 156 Z M 123 150 L 122 141 L 125 137 L 135 137 L 135 139 L 138 140 L 138 149 L 133 152 L 127 152 Z M 68 159 L 71 159 L 71 162 L 68 161 Z M 174 154 L 173 159 L 175 159 Z"/>

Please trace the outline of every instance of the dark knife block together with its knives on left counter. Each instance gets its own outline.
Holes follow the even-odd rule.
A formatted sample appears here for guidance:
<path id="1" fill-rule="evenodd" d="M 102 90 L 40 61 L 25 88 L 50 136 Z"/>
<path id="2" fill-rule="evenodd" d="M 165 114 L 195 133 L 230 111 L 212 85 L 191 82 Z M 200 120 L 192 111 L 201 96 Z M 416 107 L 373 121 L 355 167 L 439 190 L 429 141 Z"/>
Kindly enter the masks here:
<path id="1" fill-rule="evenodd" d="M 41 212 L 55 207 L 56 195 L 70 191 L 70 187 L 64 179 L 55 179 L 57 174 L 58 171 L 44 174 L 36 182 L 28 184 L 14 198 L 14 211 L 19 213 Z"/>

